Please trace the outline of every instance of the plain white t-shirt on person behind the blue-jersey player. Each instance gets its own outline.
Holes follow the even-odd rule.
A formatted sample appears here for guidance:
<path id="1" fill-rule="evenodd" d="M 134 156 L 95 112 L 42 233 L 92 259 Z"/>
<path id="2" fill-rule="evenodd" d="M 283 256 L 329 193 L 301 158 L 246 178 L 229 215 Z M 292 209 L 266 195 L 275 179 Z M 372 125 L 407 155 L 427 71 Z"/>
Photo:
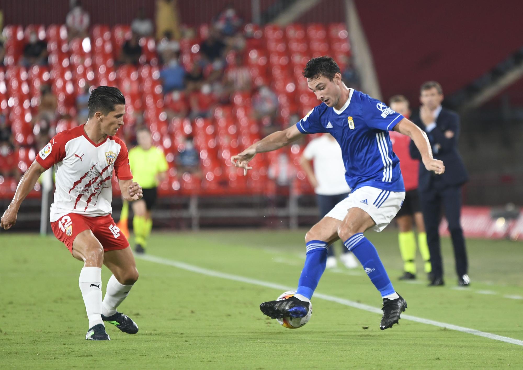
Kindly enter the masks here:
<path id="1" fill-rule="evenodd" d="M 314 161 L 314 176 L 318 182 L 314 189 L 316 194 L 337 195 L 350 191 L 345 181 L 342 149 L 335 140 L 326 135 L 315 138 L 305 147 L 303 156 Z"/>

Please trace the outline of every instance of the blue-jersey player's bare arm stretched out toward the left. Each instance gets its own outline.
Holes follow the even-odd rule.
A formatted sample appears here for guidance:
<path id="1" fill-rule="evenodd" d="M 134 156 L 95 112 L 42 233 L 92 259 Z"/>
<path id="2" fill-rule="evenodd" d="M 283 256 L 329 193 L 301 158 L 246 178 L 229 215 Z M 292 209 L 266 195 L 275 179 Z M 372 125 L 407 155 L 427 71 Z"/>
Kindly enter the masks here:
<path id="1" fill-rule="evenodd" d="M 248 166 L 248 163 L 257 153 L 276 151 L 277 149 L 298 140 L 301 136 L 303 136 L 303 134 L 298 131 L 296 125 L 292 125 L 283 131 L 273 132 L 272 134 L 249 146 L 242 153 L 233 155 L 231 157 L 231 162 L 234 164 L 234 166 L 243 168 L 243 175 L 247 175 L 247 170 L 252 169 L 252 167 Z"/>

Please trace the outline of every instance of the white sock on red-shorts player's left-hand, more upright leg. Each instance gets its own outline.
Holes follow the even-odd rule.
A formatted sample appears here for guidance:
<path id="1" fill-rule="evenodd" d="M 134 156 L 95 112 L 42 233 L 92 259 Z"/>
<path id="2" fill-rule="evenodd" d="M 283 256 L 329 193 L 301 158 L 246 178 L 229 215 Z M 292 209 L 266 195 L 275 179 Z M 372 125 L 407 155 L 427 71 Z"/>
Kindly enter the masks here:
<path id="1" fill-rule="evenodd" d="M 80 272 L 78 285 L 84 298 L 89 319 L 89 329 L 104 321 L 101 319 L 101 268 L 84 267 Z"/>

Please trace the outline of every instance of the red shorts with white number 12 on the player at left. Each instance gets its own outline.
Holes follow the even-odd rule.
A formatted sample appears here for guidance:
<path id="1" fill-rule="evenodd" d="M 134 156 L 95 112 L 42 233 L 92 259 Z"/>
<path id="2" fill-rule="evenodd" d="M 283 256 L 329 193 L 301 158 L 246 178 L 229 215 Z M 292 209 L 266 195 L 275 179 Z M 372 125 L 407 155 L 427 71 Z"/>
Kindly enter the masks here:
<path id="1" fill-rule="evenodd" d="M 123 233 L 120 233 L 120 229 L 111 215 L 88 217 L 78 213 L 69 213 L 58 221 L 51 222 L 51 229 L 56 239 L 63 242 L 71 253 L 73 253 L 74 238 L 87 229 L 93 232 L 105 252 L 129 247 L 129 241 Z"/>

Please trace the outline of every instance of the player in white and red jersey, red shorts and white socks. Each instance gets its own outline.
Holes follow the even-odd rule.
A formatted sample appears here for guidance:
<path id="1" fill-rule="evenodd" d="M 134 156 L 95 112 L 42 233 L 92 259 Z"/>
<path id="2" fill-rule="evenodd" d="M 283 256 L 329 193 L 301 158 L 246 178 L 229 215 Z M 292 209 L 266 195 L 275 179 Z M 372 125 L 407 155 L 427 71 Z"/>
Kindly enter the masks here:
<path id="1" fill-rule="evenodd" d="M 125 200 L 142 198 L 142 187 L 132 181 L 127 147 L 113 136 L 123 126 L 125 104 L 116 87 L 94 89 L 87 123 L 56 134 L 38 153 L 0 221 L 6 230 L 16 223 L 21 202 L 40 174 L 55 165 L 51 227 L 73 257 L 84 262 L 78 284 L 89 319 L 88 340 L 110 340 L 104 321 L 129 334 L 138 332 L 136 323 L 116 310 L 138 280 L 138 271 L 129 242 L 111 217 L 113 172 Z M 103 300 L 102 264 L 112 272 Z"/>

